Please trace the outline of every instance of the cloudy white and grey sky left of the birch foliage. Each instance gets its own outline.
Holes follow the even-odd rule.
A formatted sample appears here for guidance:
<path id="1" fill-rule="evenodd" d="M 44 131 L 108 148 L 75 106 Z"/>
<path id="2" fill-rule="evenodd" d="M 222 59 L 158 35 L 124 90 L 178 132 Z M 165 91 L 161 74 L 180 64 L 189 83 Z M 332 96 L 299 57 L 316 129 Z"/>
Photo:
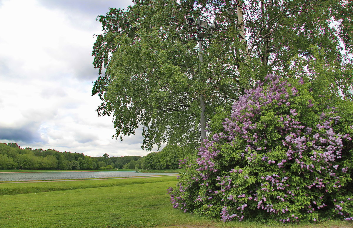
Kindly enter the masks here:
<path id="1" fill-rule="evenodd" d="M 146 155 L 142 136 L 112 138 L 91 96 L 98 15 L 131 0 L 0 0 L 0 142 L 89 156 Z"/>

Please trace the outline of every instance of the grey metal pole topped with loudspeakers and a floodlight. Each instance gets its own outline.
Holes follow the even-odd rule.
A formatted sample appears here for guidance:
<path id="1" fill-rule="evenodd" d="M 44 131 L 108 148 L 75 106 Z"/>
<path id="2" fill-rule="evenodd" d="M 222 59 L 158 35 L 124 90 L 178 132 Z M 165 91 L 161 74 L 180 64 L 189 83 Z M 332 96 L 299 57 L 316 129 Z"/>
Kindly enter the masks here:
<path id="1" fill-rule="evenodd" d="M 213 34 L 213 31 L 218 30 L 218 25 L 216 21 L 214 21 L 211 26 L 208 26 L 207 21 L 201 20 L 199 17 L 197 20 L 195 20 L 192 17 L 188 17 L 186 19 L 186 24 L 188 26 L 188 31 L 187 31 L 187 39 L 194 39 L 198 41 L 198 49 L 199 49 L 199 73 L 202 73 L 201 65 L 203 63 L 203 57 L 202 57 L 202 41 L 209 42 L 210 37 Z M 197 32 L 193 31 L 193 27 L 196 26 Z M 207 30 L 210 30 L 209 32 Z M 206 121 L 205 121 L 205 110 L 206 110 L 206 105 L 205 101 L 203 98 L 203 95 L 200 94 L 200 106 L 201 106 L 201 112 L 200 112 L 200 125 L 201 125 L 201 140 L 206 138 Z"/>

